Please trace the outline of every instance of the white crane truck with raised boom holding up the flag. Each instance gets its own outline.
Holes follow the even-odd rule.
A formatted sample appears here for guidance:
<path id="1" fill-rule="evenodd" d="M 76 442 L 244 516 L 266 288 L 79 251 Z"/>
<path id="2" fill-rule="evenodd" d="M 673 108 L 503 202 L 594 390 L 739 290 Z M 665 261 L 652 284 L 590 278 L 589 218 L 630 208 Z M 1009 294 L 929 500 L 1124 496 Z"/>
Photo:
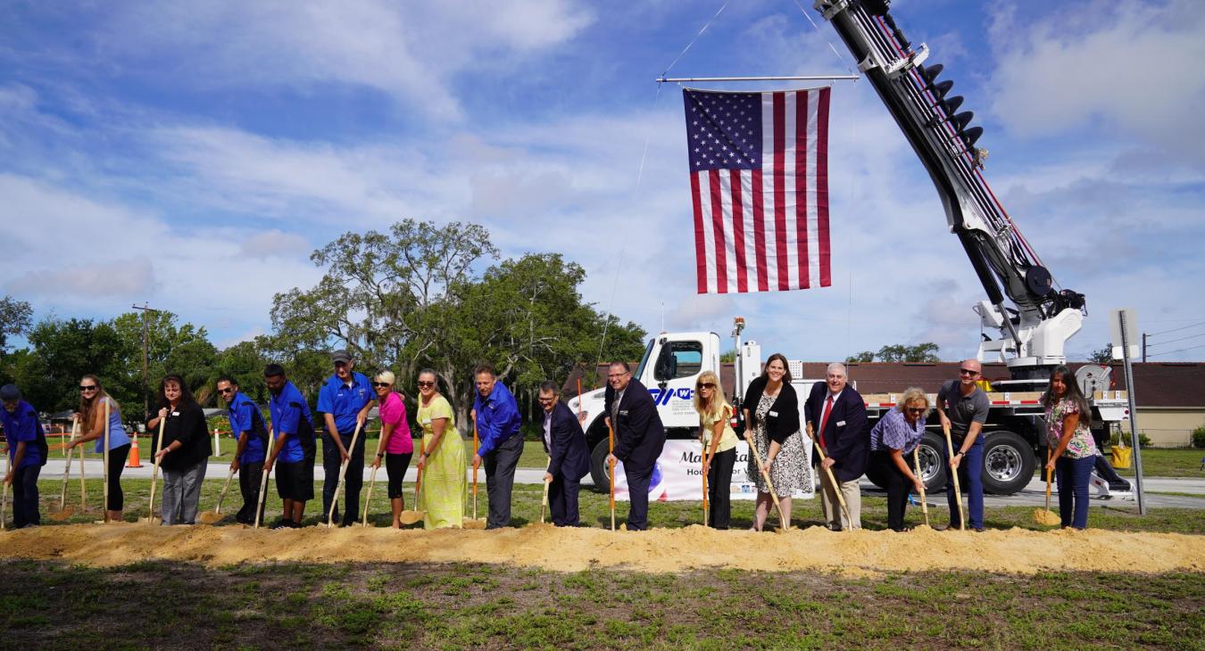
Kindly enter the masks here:
<path id="1" fill-rule="evenodd" d="M 1016 492 L 1034 477 L 1036 455 L 1045 444 L 1040 392 L 1050 371 L 1066 363 L 1064 347 L 1082 326 L 1086 298 L 1058 285 L 992 191 L 982 173 L 987 150 L 977 147 L 983 128 L 971 125 L 971 111 L 962 111 L 964 97 L 951 95 L 953 82 L 941 78 L 944 66 L 928 63 L 928 46 L 913 47 L 895 23 L 890 0 L 817 0 L 813 6 L 836 30 L 921 159 L 945 209 L 950 232 L 962 243 L 987 295 L 974 310 L 982 330 L 995 336 L 982 336 L 977 359 L 1004 363 L 1010 379 L 994 383 L 989 392 L 992 410 L 983 430 L 982 477 L 989 492 Z M 743 395 L 762 368 L 760 347 L 741 343 L 742 329 L 743 321 L 739 320 L 734 327 L 734 400 Z M 699 421 L 690 403 L 694 383 L 703 371 L 719 372 L 719 342 L 715 332 L 663 332 L 648 342 L 634 377 L 652 392 L 669 436 L 695 436 Z M 793 361 L 792 367 L 797 391 L 806 395 L 815 380 L 801 377 L 800 362 Z M 1092 397 L 1092 427 L 1098 436 L 1111 431 L 1127 414 L 1124 392 L 1109 390 L 1109 373 L 1097 366 L 1077 372 L 1084 393 Z M 857 386 L 856 373 L 851 381 Z M 889 393 L 864 398 L 872 422 L 895 402 Z M 583 413 L 594 484 L 602 486 L 607 480 L 602 463 L 602 391 L 575 398 L 571 406 Z M 921 445 L 922 475 L 929 489 L 945 485 L 941 450 L 939 434 L 929 432 Z M 881 485 L 881 478 L 869 479 Z M 1093 485 L 1103 493 L 1110 490 L 1110 483 L 1099 477 Z M 1128 486 L 1121 481 L 1112 489 Z"/>

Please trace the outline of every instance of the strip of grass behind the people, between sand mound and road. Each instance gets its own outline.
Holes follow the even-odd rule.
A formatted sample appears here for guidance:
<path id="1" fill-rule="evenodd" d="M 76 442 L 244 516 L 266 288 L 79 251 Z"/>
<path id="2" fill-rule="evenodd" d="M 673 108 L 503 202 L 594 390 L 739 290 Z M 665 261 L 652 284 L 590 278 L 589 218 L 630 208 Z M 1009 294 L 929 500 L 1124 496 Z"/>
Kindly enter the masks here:
<path id="1" fill-rule="evenodd" d="M 201 509 L 212 510 L 217 503 L 218 493 L 222 490 L 222 477 L 210 477 L 201 489 Z M 372 505 L 370 509 L 370 521 L 376 526 L 389 525 L 389 505 L 386 496 L 384 472 L 377 474 L 377 485 L 372 492 Z M 48 514 L 58 510 L 60 480 L 42 480 L 39 483 L 42 504 L 43 525 L 57 525 L 48 519 Z M 135 521 L 147 514 L 147 501 L 151 491 L 149 479 L 127 479 L 122 481 L 125 492 L 125 520 Z M 161 495 L 163 481 L 159 483 L 159 492 L 155 501 L 158 503 Z M 92 522 L 100 514 L 99 479 L 88 480 L 88 503 L 92 513 L 77 513 L 67 522 Z M 313 525 L 319 521 L 318 511 L 322 508 L 322 483 L 315 485 L 315 492 L 319 496 L 307 503 L 305 523 Z M 368 486 L 364 487 L 366 495 Z M 274 485 L 269 485 L 269 498 L 265 514 L 269 521 L 276 519 L 281 513 L 281 501 L 276 495 Z M 516 484 L 511 499 L 513 526 L 523 526 L 529 522 L 540 521 L 540 502 L 543 496 L 540 485 Z M 471 496 L 469 496 L 471 499 Z M 482 483 L 478 487 L 478 513 L 486 511 L 486 486 Z M 80 481 L 74 480 L 67 490 L 67 505 L 78 511 Z M 581 521 L 583 526 L 610 527 L 611 515 L 607 505 L 607 496 L 583 489 L 578 499 L 581 509 Z M 934 495 L 929 498 L 929 516 L 934 525 L 945 525 L 950 521 L 948 511 L 945 508 L 945 497 Z M 223 513 L 234 513 L 242 504 L 239 495 L 237 479 L 231 483 L 227 493 Z M 406 504 L 413 504 L 413 484 L 406 485 Z M 362 502 L 363 508 L 363 502 Z M 1025 529 L 1042 531 L 1051 527 L 1042 527 L 1033 521 L 1033 507 L 987 507 L 984 508 L 984 523 L 989 528 L 1021 527 Z M 1056 508 L 1057 511 L 1057 508 Z M 627 503 L 616 504 L 617 519 L 622 521 L 628 513 Z M 699 523 L 703 519 L 703 507 L 699 502 L 654 502 L 649 504 L 649 522 L 654 527 L 683 527 Z M 733 502 L 733 527 L 747 528 L 753 520 L 752 501 Z M 865 495 L 862 498 L 862 521 L 868 529 L 882 529 L 887 527 L 887 498 Z M 918 525 L 922 522 L 919 507 L 909 507 L 906 522 Z M 227 519 L 227 525 L 233 520 Z M 777 517 L 771 516 L 771 523 L 777 523 Z M 792 511 L 792 525 L 795 527 L 822 526 L 819 499 L 797 499 Z M 1152 508 L 1147 509 L 1146 516 L 1138 515 L 1134 505 L 1100 505 L 1094 503 L 1088 511 L 1088 526 L 1115 531 L 1148 531 L 1148 532 L 1176 532 L 1199 534 L 1205 532 L 1205 509 L 1176 509 L 1176 508 Z"/>

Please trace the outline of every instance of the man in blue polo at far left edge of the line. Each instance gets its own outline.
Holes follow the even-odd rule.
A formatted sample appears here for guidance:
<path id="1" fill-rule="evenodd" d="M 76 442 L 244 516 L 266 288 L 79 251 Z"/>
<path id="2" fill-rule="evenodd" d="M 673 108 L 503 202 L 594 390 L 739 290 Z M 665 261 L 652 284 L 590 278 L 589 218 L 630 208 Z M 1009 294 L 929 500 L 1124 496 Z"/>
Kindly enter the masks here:
<path id="1" fill-rule="evenodd" d="M 8 473 L 4 483 L 12 486 L 12 526 L 23 528 L 41 525 L 37 513 L 37 475 L 46 464 L 47 446 L 37 412 L 20 400 L 20 390 L 13 384 L 0 386 L 0 426 L 4 426 L 5 443 L 8 444 Z"/>

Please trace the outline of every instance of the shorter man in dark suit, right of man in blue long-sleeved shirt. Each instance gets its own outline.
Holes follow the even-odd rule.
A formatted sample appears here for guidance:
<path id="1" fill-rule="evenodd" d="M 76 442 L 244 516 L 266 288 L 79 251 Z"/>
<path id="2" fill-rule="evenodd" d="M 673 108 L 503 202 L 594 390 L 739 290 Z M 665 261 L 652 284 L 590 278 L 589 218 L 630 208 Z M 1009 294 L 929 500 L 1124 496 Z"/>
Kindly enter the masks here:
<path id="1" fill-rule="evenodd" d="M 543 408 L 543 451 L 548 452 L 543 480 L 548 483 L 552 523 L 576 527 L 577 491 L 582 478 L 590 472 L 586 432 L 569 407 L 557 400 L 556 384 L 546 381 L 540 385 L 540 407 Z"/>

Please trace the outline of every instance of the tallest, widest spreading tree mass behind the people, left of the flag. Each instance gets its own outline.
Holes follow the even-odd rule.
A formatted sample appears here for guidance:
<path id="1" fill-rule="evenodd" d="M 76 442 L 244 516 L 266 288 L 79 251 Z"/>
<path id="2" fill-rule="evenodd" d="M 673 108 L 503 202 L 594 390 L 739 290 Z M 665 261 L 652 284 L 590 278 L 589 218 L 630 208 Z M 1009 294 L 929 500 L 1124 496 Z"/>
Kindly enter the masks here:
<path id="1" fill-rule="evenodd" d="M 540 380 L 564 380 L 575 362 L 593 362 L 604 327 L 604 355 L 639 355 L 642 330 L 582 302 L 580 266 L 527 255 L 472 273 L 496 256 L 476 224 L 405 220 L 388 233 L 347 232 L 311 255 L 327 268 L 317 285 L 276 295 L 276 331 L 258 343 L 302 391 L 301 383 L 316 391 L 330 374 L 325 351 L 334 348 L 352 351 L 365 373 L 393 369 L 408 395 L 418 371 L 433 368 L 462 428 L 480 362 L 493 362 L 524 395 Z"/>

